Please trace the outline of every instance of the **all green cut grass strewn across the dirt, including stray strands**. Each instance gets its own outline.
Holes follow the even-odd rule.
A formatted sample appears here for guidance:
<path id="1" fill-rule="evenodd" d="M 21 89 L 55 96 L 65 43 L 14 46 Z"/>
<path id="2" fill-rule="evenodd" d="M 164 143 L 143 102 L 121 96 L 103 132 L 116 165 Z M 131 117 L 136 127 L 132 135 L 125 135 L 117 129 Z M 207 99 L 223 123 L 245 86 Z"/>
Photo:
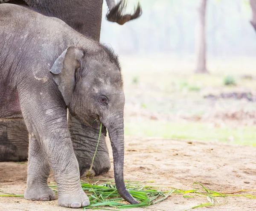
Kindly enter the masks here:
<path id="1" fill-rule="evenodd" d="M 105 181 L 98 184 L 100 181 Z M 256 199 L 256 196 L 245 194 L 250 191 L 255 190 L 242 190 L 233 193 L 218 193 L 215 191 L 210 191 L 205 188 L 201 183 L 194 182 L 193 188 L 191 190 L 179 190 L 171 187 L 163 187 L 156 185 L 147 185 L 154 181 L 136 182 L 136 181 L 125 181 L 125 185 L 129 193 L 137 200 L 140 201 L 138 205 L 130 205 L 125 202 L 122 197 L 118 194 L 116 190 L 116 185 L 113 180 L 90 180 L 93 184 L 85 183 L 81 181 L 81 186 L 86 192 L 90 199 L 90 205 L 86 208 L 90 209 L 104 209 L 113 210 L 111 208 L 137 208 L 137 207 L 147 207 L 149 205 L 161 202 L 169 197 L 171 194 L 182 194 L 184 198 L 195 198 L 195 197 L 205 197 L 206 203 L 200 204 L 192 208 L 209 207 L 215 205 L 224 205 L 227 203 L 227 197 L 247 197 L 250 199 Z M 49 185 L 53 191 L 57 194 L 57 184 L 52 182 Z M 157 189 L 169 189 L 168 191 L 158 191 Z M 23 197 L 23 195 L 9 194 L 1 191 L 5 194 L 0 195 L 0 197 Z M 84 208 L 84 210 L 86 210 Z M 187 210 L 189 210 L 187 209 Z"/>

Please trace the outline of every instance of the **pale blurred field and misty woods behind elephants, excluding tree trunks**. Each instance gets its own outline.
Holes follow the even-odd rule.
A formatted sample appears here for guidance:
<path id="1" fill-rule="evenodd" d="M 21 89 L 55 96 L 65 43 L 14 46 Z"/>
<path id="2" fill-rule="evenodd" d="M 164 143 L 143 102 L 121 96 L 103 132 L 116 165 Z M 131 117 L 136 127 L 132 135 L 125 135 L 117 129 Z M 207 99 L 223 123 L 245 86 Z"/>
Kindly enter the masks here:
<path id="1" fill-rule="evenodd" d="M 206 66 L 195 74 L 203 0 L 140 0 L 142 16 L 105 20 L 119 54 L 125 134 L 256 145 L 256 32 L 249 0 L 207 0 Z M 127 12 L 137 0 L 128 0 Z"/>

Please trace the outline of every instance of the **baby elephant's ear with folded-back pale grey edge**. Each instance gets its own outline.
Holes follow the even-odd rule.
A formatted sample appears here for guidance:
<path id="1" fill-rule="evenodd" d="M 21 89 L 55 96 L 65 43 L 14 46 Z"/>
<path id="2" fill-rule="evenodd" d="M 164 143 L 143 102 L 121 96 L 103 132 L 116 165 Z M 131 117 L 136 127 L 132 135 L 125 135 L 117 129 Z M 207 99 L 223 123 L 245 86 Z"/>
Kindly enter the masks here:
<path id="1" fill-rule="evenodd" d="M 84 52 L 81 49 L 70 46 L 56 59 L 50 70 L 67 106 L 75 87 L 76 70 L 80 67 L 79 60 L 83 56 Z"/>

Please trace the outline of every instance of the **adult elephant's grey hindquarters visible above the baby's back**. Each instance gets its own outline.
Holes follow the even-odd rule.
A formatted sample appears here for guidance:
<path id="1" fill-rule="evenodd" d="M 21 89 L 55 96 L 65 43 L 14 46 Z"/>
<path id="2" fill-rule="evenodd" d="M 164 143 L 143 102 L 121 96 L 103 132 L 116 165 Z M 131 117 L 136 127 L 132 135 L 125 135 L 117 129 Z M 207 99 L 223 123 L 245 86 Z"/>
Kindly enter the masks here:
<path id="1" fill-rule="evenodd" d="M 99 41 L 103 0 L 23 1 L 30 8 L 47 16 L 58 17 L 82 35 Z"/>

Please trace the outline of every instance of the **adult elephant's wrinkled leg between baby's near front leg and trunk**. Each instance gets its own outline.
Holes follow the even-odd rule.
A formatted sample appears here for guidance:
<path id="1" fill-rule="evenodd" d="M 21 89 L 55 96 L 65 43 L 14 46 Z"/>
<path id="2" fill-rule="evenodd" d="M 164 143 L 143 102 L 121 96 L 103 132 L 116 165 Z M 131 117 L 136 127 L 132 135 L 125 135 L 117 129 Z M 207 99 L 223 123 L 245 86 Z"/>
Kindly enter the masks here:
<path id="1" fill-rule="evenodd" d="M 73 148 L 79 163 L 80 176 L 84 177 L 90 168 L 93 154 L 99 139 L 99 130 L 81 123 L 69 113 L 68 126 Z M 101 134 L 99 147 L 93 162 L 93 173 L 100 175 L 108 172 L 111 167 L 105 136 Z"/>

